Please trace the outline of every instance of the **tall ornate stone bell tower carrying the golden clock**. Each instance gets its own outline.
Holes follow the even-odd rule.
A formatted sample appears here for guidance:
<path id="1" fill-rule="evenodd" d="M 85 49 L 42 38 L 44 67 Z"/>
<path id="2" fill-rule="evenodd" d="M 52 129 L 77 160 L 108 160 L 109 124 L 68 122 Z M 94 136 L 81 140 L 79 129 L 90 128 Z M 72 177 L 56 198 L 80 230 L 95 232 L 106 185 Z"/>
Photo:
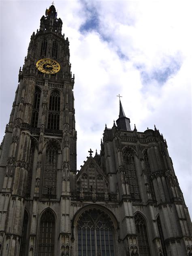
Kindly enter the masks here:
<path id="1" fill-rule="evenodd" d="M 70 255 L 77 141 L 70 68 L 69 41 L 51 5 L 31 36 L 1 145 L 0 255 Z"/>

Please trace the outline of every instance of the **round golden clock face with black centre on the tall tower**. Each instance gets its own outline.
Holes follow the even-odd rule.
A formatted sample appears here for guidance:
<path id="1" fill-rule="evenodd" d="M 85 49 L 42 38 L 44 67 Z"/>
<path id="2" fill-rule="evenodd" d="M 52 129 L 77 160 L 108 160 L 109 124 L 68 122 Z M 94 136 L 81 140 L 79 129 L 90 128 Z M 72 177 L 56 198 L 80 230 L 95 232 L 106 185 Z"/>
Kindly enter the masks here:
<path id="1" fill-rule="evenodd" d="M 45 74 L 55 74 L 60 70 L 60 64 L 55 60 L 41 59 L 36 63 L 36 67 L 39 71 Z"/>

